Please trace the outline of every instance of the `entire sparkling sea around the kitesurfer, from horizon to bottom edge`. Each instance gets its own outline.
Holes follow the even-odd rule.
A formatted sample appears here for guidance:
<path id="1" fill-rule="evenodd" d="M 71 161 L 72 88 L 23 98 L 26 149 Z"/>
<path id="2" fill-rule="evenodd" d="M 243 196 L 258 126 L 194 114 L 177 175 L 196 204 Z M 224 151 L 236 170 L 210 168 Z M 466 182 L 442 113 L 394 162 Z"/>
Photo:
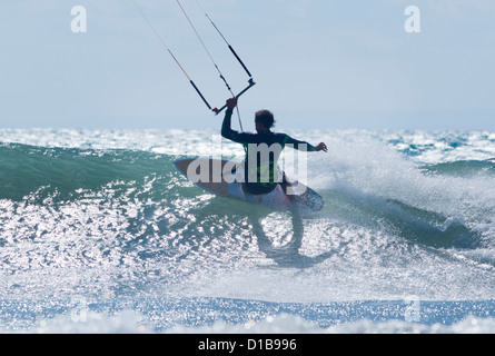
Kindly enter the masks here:
<path id="1" fill-rule="evenodd" d="M 459 134 L 456 146 L 452 132 L 291 134 L 329 148 L 308 156 L 308 184 L 326 200 L 316 214 L 185 179 L 174 160 L 209 156 L 214 131 L 0 130 L 1 329 L 70 329 L 82 307 L 88 332 L 113 316 L 116 330 L 226 320 L 236 332 L 283 315 L 300 330 L 462 332 L 468 315 L 489 328 L 491 135 Z M 221 154 L 242 149 L 221 142 Z"/>

